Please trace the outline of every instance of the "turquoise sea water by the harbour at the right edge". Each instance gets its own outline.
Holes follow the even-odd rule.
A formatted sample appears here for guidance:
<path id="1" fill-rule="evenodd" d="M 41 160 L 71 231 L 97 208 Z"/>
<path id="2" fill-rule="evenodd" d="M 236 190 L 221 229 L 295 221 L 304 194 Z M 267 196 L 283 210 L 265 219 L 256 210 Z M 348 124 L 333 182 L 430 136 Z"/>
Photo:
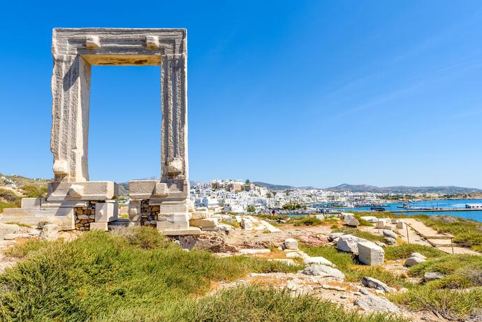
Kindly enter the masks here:
<path id="1" fill-rule="evenodd" d="M 467 203 L 482 203 L 482 199 L 453 199 L 453 200 L 423 200 L 409 203 L 411 207 L 424 207 L 430 209 L 465 209 L 465 204 Z M 397 212 L 403 210 L 402 207 L 404 203 L 386 203 L 386 211 Z M 334 208 L 346 211 L 370 211 L 370 207 L 356 207 L 356 208 Z M 482 211 L 444 211 L 444 212 L 424 212 L 423 210 L 417 212 L 404 212 L 403 214 L 428 214 L 431 216 L 436 215 L 447 215 L 453 217 L 474 219 L 476 221 L 482 221 Z"/>

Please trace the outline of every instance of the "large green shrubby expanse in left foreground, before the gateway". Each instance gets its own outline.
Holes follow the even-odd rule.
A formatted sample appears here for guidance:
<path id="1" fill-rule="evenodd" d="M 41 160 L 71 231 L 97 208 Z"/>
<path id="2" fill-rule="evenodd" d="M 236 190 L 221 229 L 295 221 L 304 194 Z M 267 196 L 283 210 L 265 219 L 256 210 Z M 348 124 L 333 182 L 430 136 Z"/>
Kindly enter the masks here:
<path id="1" fill-rule="evenodd" d="M 23 261 L 0 275 L 1 321 L 402 321 L 256 286 L 204 297 L 217 281 L 299 267 L 182 251 L 148 227 L 92 231 L 68 243 L 29 240 L 8 256 Z"/>

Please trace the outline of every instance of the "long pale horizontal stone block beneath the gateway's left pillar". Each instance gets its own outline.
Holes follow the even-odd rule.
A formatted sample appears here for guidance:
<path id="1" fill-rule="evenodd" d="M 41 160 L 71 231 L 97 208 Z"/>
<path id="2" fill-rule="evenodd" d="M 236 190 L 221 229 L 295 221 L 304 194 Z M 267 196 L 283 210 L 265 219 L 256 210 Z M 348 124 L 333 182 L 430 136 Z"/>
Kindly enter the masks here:
<path id="1" fill-rule="evenodd" d="M 47 201 L 110 200 L 119 196 L 112 181 L 49 182 Z"/>

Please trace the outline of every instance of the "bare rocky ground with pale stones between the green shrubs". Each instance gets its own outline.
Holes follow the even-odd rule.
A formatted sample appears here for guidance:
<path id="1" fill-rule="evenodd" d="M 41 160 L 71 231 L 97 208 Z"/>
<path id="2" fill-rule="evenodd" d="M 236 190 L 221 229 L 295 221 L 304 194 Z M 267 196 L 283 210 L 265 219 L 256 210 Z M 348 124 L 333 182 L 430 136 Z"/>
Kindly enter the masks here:
<path id="1" fill-rule="evenodd" d="M 341 221 L 341 220 L 340 220 Z M 291 265 L 300 265 L 296 273 L 263 273 L 250 275 L 237 281 L 226 283 L 218 282 L 212 285 L 210 293 L 237 285 L 261 284 L 275 288 L 286 288 L 293 296 L 309 294 L 316 298 L 329 300 L 342 305 L 346 310 L 356 310 L 370 314 L 372 312 L 388 312 L 401 314 L 411 321 L 448 321 L 434 312 L 414 312 L 408 307 L 395 305 L 385 295 L 387 293 L 403 293 L 405 288 L 391 288 L 376 279 L 376 276 L 366 276 L 362 281 L 347 281 L 343 272 L 338 270 L 333 263 L 323 257 L 310 257 L 300 250 L 300 244 L 309 246 L 330 245 L 340 249 L 340 238 L 345 238 L 345 247 L 350 244 L 351 237 L 340 237 L 343 234 L 333 234 L 333 228 L 342 226 L 338 224 L 319 226 L 293 226 L 292 224 L 279 225 L 279 232 L 269 233 L 266 230 L 246 230 L 233 228 L 224 231 L 203 232 L 197 237 L 173 238 L 184 249 L 205 249 L 212 251 L 217 256 L 256 256 L 270 261 L 282 261 Z M 373 227 L 359 226 L 357 229 L 373 234 L 388 237 L 390 233 Z M 63 238 L 70 241 L 78 237 L 81 232 L 59 232 L 54 224 L 41 223 L 38 228 L 18 226 L 16 224 L 0 224 L 0 272 L 15 265 L 16 260 L 5 256 L 3 252 L 14 244 L 24 242 L 30 238 L 41 240 L 57 240 Z M 353 237 L 353 236 L 352 236 Z M 393 236 L 400 238 L 400 235 Z M 394 238 L 394 239 L 395 239 Z M 416 238 L 414 238 L 414 241 Z M 422 238 L 420 242 L 425 243 Z M 423 261 L 412 256 L 413 261 Z M 407 260 L 408 261 L 408 260 Z M 414 263 L 414 265 L 416 265 Z M 404 260 L 384 261 L 382 267 L 393 275 L 408 277 L 407 262 Z M 405 279 L 410 281 L 409 278 Z M 418 280 L 414 280 L 418 282 Z"/>

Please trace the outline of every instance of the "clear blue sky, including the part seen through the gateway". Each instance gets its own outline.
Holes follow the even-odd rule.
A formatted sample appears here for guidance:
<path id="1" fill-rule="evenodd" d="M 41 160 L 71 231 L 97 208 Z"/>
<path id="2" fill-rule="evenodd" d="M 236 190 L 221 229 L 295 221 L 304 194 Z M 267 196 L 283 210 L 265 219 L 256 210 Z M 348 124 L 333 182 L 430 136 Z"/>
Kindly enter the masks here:
<path id="1" fill-rule="evenodd" d="M 482 188 L 481 1 L 15 2 L 2 173 L 52 177 L 52 28 L 185 27 L 191 180 Z M 159 175 L 159 77 L 93 67 L 91 180 Z"/>

